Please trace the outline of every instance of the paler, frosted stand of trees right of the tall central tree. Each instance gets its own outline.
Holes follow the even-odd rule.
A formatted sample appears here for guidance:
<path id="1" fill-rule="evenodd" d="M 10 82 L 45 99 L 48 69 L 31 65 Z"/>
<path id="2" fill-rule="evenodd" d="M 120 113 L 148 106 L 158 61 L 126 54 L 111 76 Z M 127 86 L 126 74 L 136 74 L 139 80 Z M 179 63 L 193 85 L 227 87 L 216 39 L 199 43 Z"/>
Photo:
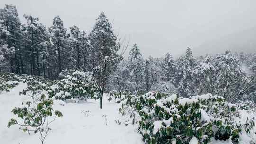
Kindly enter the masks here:
<path id="1" fill-rule="evenodd" d="M 168 91 L 183 97 L 212 93 L 229 102 L 256 100 L 256 53 L 226 51 L 224 54 L 193 57 L 192 50 L 187 48 L 177 59 L 169 53 L 164 58 L 144 59 L 135 47 L 136 44 L 129 59 L 118 65 L 117 77 L 119 81 L 123 80 L 119 90 L 133 93 L 138 89 Z M 132 89 L 135 86 L 136 89 Z"/>

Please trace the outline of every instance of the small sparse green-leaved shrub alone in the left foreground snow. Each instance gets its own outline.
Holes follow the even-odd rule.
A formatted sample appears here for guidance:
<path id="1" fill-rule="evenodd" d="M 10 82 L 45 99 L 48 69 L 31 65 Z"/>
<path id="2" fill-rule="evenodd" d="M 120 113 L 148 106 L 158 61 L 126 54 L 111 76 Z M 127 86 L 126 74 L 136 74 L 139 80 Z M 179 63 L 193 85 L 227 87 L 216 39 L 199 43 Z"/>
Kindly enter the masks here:
<path id="1" fill-rule="evenodd" d="M 34 97 L 26 103 L 22 103 L 22 108 L 14 108 L 12 113 L 17 115 L 21 120 L 12 118 L 8 122 L 8 127 L 19 125 L 24 132 L 39 132 L 39 139 L 42 144 L 48 135 L 51 128 L 49 127 L 56 117 L 62 117 L 62 113 L 58 110 L 53 110 L 53 100 L 46 98 L 42 94 L 41 97 Z M 22 121 L 22 122 L 21 122 Z"/>

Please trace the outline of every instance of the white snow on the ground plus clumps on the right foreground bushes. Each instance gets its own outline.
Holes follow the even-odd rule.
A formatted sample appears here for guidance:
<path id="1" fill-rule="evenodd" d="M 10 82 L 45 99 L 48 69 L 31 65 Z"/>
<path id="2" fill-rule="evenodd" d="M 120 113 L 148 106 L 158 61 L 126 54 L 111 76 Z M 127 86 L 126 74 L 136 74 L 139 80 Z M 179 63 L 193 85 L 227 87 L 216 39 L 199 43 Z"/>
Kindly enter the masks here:
<path id="1" fill-rule="evenodd" d="M 19 91 L 26 88 L 26 84 L 20 83 L 10 92 L 2 92 L 0 94 L 0 144 L 39 144 L 38 134 L 27 133 L 19 130 L 19 126 L 7 127 L 10 118 L 17 118 L 11 113 L 15 107 L 21 107 L 21 103 L 31 99 L 29 96 L 19 96 Z M 43 91 L 42 93 L 46 93 Z M 68 93 L 62 94 L 68 95 Z M 148 95 L 150 95 L 148 93 Z M 164 101 L 176 99 L 176 95 L 172 95 Z M 214 96 L 215 97 L 215 96 Z M 209 99 L 208 94 L 197 97 L 198 99 Z M 181 105 L 185 103 L 191 104 L 198 102 L 198 99 L 182 98 L 179 99 Z M 119 114 L 118 109 L 121 103 L 108 102 L 106 95 L 103 98 L 103 109 L 99 108 L 99 101 L 89 99 L 87 102 L 77 103 L 75 100 L 64 102 L 54 100 L 54 109 L 60 110 L 63 113 L 62 118 L 57 118 L 53 125 L 50 126 L 52 131 L 46 137 L 45 144 L 144 144 L 142 136 L 137 133 L 137 125 L 125 126 L 115 123 L 116 119 L 123 118 Z M 76 102 L 76 103 L 75 103 Z M 159 101 L 160 102 L 160 101 Z M 169 109 L 170 110 L 170 109 Z M 203 109 L 201 112 L 201 121 L 209 122 L 210 117 Z M 87 116 L 85 117 L 86 111 Z M 255 117 L 255 113 L 247 113 L 245 110 L 240 110 L 240 121 L 246 121 L 247 117 Z M 153 134 L 156 134 L 165 123 L 167 126 L 172 122 L 172 117 L 168 120 L 155 121 Z M 106 125 L 107 124 L 107 125 Z M 240 135 L 239 144 L 250 144 L 251 139 L 255 139 L 256 127 L 250 134 L 243 132 Z M 175 144 L 175 141 L 172 142 Z M 189 144 L 198 144 L 196 137 L 192 137 Z M 231 139 L 227 141 L 214 140 L 211 138 L 208 144 L 233 144 Z"/>

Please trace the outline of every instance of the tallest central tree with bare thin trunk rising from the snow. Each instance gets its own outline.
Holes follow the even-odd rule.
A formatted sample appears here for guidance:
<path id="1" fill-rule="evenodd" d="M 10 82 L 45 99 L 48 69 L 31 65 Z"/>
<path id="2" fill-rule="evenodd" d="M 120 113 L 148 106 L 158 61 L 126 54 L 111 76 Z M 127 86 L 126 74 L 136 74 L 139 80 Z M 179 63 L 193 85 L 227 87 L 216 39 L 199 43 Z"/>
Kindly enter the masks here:
<path id="1" fill-rule="evenodd" d="M 100 90 L 100 108 L 108 78 L 113 74 L 122 56 L 117 52 L 121 48 L 112 26 L 102 12 L 89 35 L 91 71 Z"/>

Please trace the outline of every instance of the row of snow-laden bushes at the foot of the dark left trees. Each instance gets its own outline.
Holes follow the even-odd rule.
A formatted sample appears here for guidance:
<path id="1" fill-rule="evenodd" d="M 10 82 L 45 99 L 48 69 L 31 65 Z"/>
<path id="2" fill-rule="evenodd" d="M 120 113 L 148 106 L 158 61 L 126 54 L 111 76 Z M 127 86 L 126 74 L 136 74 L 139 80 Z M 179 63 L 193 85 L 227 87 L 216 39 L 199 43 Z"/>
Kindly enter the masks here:
<path id="1" fill-rule="evenodd" d="M 20 95 L 28 95 L 32 98 L 42 93 L 49 98 L 60 100 L 77 99 L 98 99 L 98 87 L 93 81 L 92 73 L 79 70 L 66 70 L 60 73 L 60 80 L 49 80 L 38 76 L 15 75 L 8 72 L 0 73 L 0 91 L 18 85 L 19 82 L 27 84 L 27 87 L 20 91 Z"/>

